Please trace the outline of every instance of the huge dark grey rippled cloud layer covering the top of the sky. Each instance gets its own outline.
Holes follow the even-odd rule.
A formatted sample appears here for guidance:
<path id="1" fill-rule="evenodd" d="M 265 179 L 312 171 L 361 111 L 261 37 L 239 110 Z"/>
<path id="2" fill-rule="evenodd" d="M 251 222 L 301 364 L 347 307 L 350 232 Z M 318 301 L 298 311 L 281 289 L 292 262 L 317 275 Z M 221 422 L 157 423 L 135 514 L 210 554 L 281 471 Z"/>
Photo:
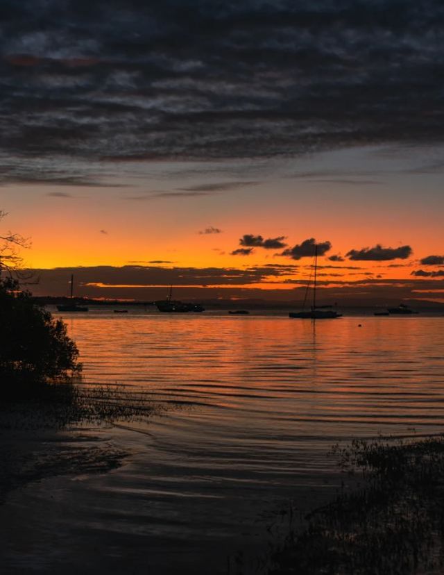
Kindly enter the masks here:
<path id="1" fill-rule="evenodd" d="M 4 0 L 0 149 L 248 158 L 443 140 L 443 28 L 440 0 Z"/>

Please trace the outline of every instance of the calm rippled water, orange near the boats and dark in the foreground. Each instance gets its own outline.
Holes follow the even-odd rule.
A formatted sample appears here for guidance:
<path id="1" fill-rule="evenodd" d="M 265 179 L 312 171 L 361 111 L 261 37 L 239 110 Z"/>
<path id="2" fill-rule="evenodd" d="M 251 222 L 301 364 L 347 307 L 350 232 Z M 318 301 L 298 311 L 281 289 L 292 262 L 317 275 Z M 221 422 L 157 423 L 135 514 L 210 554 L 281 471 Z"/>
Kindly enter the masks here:
<path id="1" fill-rule="evenodd" d="M 260 572 L 280 510 L 334 494 L 334 442 L 442 431 L 444 317 L 66 319 L 87 381 L 142 386 L 171 408 L 101 432 L 130 451 L 120 469 L 46 480 L 3 506 L 11 572 L 17 552 L 40 572 Z"/>

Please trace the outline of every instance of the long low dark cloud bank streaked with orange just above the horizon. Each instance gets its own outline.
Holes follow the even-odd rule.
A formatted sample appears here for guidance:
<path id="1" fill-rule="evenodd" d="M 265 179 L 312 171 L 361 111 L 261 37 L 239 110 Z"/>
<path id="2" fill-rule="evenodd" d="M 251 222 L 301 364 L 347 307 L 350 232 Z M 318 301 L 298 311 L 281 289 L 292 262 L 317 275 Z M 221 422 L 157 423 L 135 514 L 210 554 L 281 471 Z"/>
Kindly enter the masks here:
<path id="1" fill-rule="evenodd" d="M 332 266 L 332 269 L 334 267 Z M 359 270 L 359 268 L 357 268 Z M 39 283 L 32 286 L 35 295 L 67 296 L 69 278 L 74 273 L 75 294 L 99 299 L 163 299 L 173 285 L 178 298 L 230 299 L 253 298 L 265 301 L 300 301 L 307 285 L 307 271 L 298 266 L 273 265 L 236 267 L 163 267 L 160 265 L 126 265 L 122 267 L 58 267 L 35 269 Z M 361 278 L 341 279 L 329 273 L 330 279 L 318 282 L 319 295 L 326 303 L 341 301 L 345 305 L 399 303 L 402 299 L 444 301 L 444 279 L 424 276 L 407 279 Z M 346 273 L 346 272 L 344 272 Z M 433 272 L 431 272 L 433 273 Z M 295 276 L 296 274 L 296 276 Z M 423 274 L 415 274 L 422 276 Z M 293 276 L 293 278 L 289 278 Z M 434 278 L 436 277 L 436 278 Z M 263 287 L 261 285 L 263 284 Z M 284 285 L 288 289 L 282 289 Z"/>

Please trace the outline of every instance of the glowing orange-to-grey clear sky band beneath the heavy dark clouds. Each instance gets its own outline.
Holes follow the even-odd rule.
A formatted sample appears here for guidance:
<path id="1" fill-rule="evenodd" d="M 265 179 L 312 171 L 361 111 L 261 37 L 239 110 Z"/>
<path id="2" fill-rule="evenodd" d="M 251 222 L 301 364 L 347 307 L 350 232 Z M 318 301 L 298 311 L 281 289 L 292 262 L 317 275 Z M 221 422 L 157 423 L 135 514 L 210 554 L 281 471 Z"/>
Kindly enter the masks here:
<path id="1" fill-rule="evenodd" d="M 444 254 L 443 178 L 429 167 L 439 153 L 367 147 L 247 163 L 97 163 L 95 185 L 4 186 L 1 208 L 8 217 L 1 225 L 31 238 L 23 255 L 35 268 L 298 265 L 296 274 L 273 279 L 281 285 L 261 283 L 273 289 L 288 289 L 284 279 L 307 277 L 311 260 L 280 256 L 282 249 L 231 255 L 244 234 L 253 234 L 284 236 L 289 247 L 328 240 L 326 256 L 408 244 L 413 253 L 405 260 L 320 258 L 332 268 L 319 273 L 342 281 L 368 274 L 409 278 L 424 267 L 418 260 Z M 208 228 L 219 233 L 199 233 Z"/>

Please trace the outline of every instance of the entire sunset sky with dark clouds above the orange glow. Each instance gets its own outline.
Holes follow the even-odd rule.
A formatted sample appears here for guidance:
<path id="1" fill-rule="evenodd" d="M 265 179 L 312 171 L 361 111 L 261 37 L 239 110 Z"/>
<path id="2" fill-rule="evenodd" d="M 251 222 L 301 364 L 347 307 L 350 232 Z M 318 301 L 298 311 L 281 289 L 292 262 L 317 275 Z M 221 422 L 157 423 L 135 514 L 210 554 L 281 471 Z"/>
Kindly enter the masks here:
<path id="1" fill-rule="evenodd" d="M 3 0 L 35 294 L 444 301 L 438 1 Z"/>

